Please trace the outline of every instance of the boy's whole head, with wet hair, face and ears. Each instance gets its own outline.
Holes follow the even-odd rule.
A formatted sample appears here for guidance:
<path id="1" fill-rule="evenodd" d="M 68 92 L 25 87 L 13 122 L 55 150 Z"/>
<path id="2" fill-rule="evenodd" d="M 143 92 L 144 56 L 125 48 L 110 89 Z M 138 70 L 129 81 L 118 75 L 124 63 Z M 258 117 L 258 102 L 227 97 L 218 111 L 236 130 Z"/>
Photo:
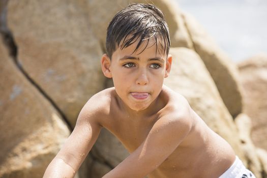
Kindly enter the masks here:
<path id="1" fill-rule="evenodd" d="M 106 40 L 102 71 L 113 79 L 117 96 L 135 111 L 157 108 L 172 61 L 162 12 L 153 5 L 130 5 L 114 16 Z"/>

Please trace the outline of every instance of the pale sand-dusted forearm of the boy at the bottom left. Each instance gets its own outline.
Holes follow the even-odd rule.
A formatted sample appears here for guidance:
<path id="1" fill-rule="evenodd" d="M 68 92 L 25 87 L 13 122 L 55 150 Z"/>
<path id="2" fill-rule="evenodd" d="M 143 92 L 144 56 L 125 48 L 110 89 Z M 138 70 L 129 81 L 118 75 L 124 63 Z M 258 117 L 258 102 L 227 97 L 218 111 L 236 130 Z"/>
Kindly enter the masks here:
<path id="1" fill-rule="evenodd" d="M 75 174 L 75 170 L 63 159 L 55 157 L 46 168 L 43 178 L 72 178 Z"/>

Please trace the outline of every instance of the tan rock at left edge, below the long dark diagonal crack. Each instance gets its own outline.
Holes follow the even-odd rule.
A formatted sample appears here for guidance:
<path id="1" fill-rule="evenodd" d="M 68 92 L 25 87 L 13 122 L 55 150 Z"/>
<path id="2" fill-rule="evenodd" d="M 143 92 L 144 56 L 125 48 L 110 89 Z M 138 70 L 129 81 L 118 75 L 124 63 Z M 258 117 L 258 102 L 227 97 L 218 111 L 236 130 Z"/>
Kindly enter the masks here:
<path id="1" fill-rule="evenodd" d="M 0 41 L 0 177 L 42 177 L 70 134 Z"/>

